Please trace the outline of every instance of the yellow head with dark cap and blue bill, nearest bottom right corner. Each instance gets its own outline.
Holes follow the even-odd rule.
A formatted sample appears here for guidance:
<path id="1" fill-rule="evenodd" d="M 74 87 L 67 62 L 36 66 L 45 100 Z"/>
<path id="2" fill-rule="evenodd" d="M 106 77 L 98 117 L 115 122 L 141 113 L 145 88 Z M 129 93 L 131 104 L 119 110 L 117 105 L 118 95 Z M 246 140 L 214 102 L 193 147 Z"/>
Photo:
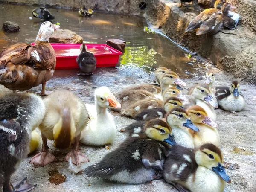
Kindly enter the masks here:
<path id="1" fill-rule="evenodd" d="M 195 152 L 195 160 L 199 166 L 204 166 L 207 169 L 215 172 L 222 180 L 231 183 L 230 177 L 227 175 L 223 166 L 223 157 L 221 150 L 211 143 L 202 145 Z"/>

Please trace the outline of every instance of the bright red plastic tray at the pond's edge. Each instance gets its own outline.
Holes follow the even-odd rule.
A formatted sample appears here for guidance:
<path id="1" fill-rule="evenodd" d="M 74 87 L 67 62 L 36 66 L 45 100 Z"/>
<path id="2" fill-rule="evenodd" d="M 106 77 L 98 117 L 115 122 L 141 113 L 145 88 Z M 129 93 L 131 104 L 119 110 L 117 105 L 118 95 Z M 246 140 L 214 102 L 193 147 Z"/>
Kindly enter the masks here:
<path id="1" fill-rule="evenodd" d="M 34 45 L 35 43 L 32 43 Z M 69 50 L 69 49 L 79 49 L 81 44 L 54 44 L 51 43 L 53 49 L 56 52 L 56 69 L 75 69 L 79 68 L 76 63 L 76 58 L 79 55 L 79 52 L 76 52 L 76 55 L 72 56 L 62 56 L 58 55 L 59 50 Z M 122 55 L 122 52 L 106 45 L 106 44 L 86 44 L 88 51 L 92 48 L 98 50 L 105 49 L 108 53 L 95 53 L 96 58 L 96 67 L 115 67 L 119 60 L 119 55 Z"/>

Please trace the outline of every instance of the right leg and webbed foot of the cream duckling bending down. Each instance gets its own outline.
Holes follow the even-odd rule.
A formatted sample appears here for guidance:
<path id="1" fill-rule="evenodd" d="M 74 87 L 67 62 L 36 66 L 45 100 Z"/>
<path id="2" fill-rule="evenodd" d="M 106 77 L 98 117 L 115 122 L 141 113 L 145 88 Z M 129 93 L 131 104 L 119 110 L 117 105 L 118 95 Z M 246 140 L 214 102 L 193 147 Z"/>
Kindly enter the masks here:
<path id="1" fill-rule="evenodd" d="M 79 134 L 76 138 L 75 138 L 75 143 L 73 146 L 72 151 L 70 151 L 66 157 L 64 158 L 64 161 L 69 161 L 71 158 L 71 162 L 75 165 L 78 165 L 79 163 L 83 163 L 83 162 L 89 162 L 89 159 L 86 155 L 82 154 L 79 151 L 79 140 L 80 140 L 80 136 L 81 134 Z"/>

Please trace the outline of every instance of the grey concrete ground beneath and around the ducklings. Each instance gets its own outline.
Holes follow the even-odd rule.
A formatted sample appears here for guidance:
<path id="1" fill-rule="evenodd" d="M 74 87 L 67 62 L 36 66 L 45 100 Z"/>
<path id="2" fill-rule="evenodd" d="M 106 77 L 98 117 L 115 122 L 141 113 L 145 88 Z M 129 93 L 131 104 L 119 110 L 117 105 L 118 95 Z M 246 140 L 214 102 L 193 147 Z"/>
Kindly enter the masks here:
<path id="1" fill-rule="evenodd" d="M 215 86 L 229 85 L 232 77 L 224 74 L 216 68 Z M 198 72 L 198 75 L 205 73 L 205 69 Z M 47 90 L 67 89 L 79 96 L 85 103 L 93 104 L 94 90 L 100 86 L 108 86 L 113 93 L 117 93 L 123 88 L 140 83 L 151 83 L 154 80 L 152 74 L 147 74 L 137 68 L 97 68 L 90 77 L 80 77 L 76 75 L 77 70 L 57 70 L 55 76 L 47 82 Z M 201 81 L 200 78 L 183 79 L 188 83 L 188 87 Z M 240 168 L 227 170 L 232 183 L 227 184 L 227 192 L 255 192 L 256 191 L 256 86 L 240 83 L 241 92 L 247 101 L 244 111 L 239 113 L 230 113 L 217 109 L 217 123 L 221 136 L 221 150 L 224 153 L 224 161 L 228 163 L 237 163 Z M 32 90 L 38 90 L 36 87 Z M 0 93 L 9 91 L 0 86 Z M 186 93 L 187 90 L 184 90 Z M 133 119 L 122 116 L 114 117 L 116 122 L 117 137 L 113 145 L 109 145 L 110 150 L 96 147 L 80 146 L 82 153 L 86 154 L 90 162 L 82 163 L 81 167 L 97 163 L 105 154 L 114 150 L 126 139 L 125 133 L 119 132 L 125 128 Z M 12 180 L 21 180 L 28 178 L 31 184 L 37 184 L 35 192 L 175 192 L 173 186 L 165 183 L 163 179 L 154 180 L 152 183 L 140 185 L 125 185 L 108 183 L 102 180 L 87 178 L 84 175 L 74 175 L 68 170 L 68 163 L 63 159 L 68 151 L 60 151 L 54 148 L 52 141 L 48 141 L 50 152 L 55 155 L 58 161 L 50 163 L 44 167 L 32 166 L 29 160 L 37 154 L 41 145 L 34 154 L 29 155 L 20 164 L 17 172 L 12 175 Z M 59 185 L 50 182 L 49 177 L 57 173 L 65 175 L 66 181 Z M 64 177 L 65 177 L 64 176 Z"/>

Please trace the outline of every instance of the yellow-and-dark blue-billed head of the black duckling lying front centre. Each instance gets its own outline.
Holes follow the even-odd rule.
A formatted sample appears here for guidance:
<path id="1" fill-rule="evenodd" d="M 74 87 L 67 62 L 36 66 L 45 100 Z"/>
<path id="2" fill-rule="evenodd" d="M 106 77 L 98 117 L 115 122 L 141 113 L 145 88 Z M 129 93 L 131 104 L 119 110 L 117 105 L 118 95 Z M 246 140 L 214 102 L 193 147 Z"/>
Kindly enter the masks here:
<path id="1" fill-rule="evenodd" d="M 169 145 L 176 145 L 176 141 L 172 135 L 172 129 L 161 119 L 152 119 L 145 125 L 145 134 L 148 138 L 166 142 Z"/>

